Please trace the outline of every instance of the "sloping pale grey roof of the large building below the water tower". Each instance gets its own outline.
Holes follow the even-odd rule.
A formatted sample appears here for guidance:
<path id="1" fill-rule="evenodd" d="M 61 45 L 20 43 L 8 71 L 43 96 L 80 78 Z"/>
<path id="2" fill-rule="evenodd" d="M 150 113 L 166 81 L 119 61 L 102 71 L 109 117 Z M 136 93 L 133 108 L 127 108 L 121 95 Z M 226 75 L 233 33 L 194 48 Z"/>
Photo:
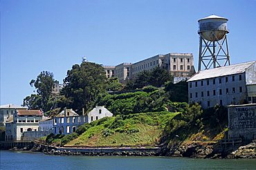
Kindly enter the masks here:
<path id="1" fill-rule="evenodd" d="M 219 68 L 212 68 L 209 70 L 200 70 L 196 74 L 194 74 L 190 79 L 188 79 L 188 82 L 200 80 L 200 79 L 210 79 L 214 77 L 222 77 L 226 75 L 235 75 L 239 73 L 244 73 L 246 71 L 246 68 L 251 66 L 252 64 L 255 64 L 256 61 L 253 62 L 246 62 L 241 64 L 234 64 L 230 66 L 223 66 Z"/>

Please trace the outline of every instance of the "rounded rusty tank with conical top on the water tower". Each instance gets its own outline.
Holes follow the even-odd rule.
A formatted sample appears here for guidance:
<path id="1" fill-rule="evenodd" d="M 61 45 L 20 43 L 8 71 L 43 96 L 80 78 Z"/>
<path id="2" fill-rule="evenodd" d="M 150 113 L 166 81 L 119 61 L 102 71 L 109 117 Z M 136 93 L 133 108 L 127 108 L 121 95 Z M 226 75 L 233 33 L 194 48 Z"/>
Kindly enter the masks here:
<path id="1" fill-rule="evenodd" d="M 210 15 L 199 19 L 199 34 L 208 41 L 219 41 L 228 33 L 228 19 Z"/>

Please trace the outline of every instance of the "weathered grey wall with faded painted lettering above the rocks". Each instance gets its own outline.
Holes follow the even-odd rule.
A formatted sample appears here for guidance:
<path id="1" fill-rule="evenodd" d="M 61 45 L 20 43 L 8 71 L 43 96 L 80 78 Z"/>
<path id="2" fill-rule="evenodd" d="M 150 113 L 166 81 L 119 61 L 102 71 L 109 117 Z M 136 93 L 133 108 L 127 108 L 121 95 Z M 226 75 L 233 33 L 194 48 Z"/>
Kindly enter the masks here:
<path id="1" fill-rule="evenodd" d="M 256 139 L 256 104 L 228 106 L 228 137 Z"/>

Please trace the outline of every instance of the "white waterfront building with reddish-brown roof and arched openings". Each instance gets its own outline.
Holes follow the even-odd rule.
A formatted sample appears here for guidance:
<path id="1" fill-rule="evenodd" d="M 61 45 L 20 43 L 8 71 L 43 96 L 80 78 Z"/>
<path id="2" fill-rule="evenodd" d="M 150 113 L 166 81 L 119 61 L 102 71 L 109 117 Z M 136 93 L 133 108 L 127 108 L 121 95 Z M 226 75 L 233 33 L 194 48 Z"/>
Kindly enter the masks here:
<path id="1" fill-rule="evenodd" d="M 38 131 L 43 114 L 39 110 L 17 110 L 6 122 L 6 141 L 22 140 L 26 131 Z"/>

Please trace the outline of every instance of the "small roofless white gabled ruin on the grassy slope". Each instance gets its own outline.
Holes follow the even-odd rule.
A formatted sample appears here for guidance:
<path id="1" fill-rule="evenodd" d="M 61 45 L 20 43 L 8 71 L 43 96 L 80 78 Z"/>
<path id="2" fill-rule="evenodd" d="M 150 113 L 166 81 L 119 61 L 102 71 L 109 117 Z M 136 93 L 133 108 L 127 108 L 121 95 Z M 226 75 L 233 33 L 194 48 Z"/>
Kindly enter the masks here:
<path id="1" fill-rule="evenodd" d="M 104 106 L 95 106 L 95 108 L 93 108 L 87 115 L 88 122 L 91 123 L 94 120 L 100 120 L 103 117 L 112 117 L 113 113 L 107 110 Z"/>

